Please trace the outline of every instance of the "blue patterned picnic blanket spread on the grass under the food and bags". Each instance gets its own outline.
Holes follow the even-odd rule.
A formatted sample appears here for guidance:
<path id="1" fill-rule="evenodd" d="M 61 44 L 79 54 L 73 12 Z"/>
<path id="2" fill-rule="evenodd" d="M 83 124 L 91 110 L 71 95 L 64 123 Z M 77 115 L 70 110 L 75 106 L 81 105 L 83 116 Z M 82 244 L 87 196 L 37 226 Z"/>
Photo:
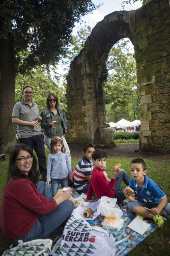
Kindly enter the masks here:
<path id="1" fill-rule="evenodd" d="M 80 196 L 75 188 L 71 188 L 71 192 L 71 195 L 74 198 Z M 124 224 L 122 229 L 120 229 L 119 231 L 109 230 L 109 233 L 112 234 L 115 240 L 116 256 L 126 255 L 131 249 L 137 246 L 140 242 L 143 241 L 143 239 L 145 239 L 147 236 L 149 236 L 149 234 L 151 234 L 158 228 L 158 226 L 152 220 L 145 220 L 150 224 L 150 227 L 143 235 L 140 235 L 127 227 L 136 217 L 133 212 L 127 209 L 127 203 L 128 200 L 126 199 L 123 201 L 122 204 L 119 205 L 120 209 L 123 211 L 122 218 L 124 218 Z M 100 214 L 97 218 L 95 218 L 95 222 L 91 226 L 101 227 L 101 222 L 103 218 L 104 217 Z"/>

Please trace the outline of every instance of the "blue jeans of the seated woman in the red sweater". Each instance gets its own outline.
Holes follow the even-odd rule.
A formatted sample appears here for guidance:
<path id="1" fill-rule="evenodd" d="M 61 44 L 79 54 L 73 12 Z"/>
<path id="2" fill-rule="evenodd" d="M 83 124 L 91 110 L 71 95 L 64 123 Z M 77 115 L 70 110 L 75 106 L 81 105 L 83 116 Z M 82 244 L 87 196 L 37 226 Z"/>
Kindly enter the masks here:
<path id="1" fill-rule="evenodd" d="M 41 195 L 53 200 L 50 190 L 44 181 L 37 184 L 37 189 Z M 37 215 L 37 220 L 32 229 L 24 236 L 15 239 L 23 240 L 23 242 L 34 239 L 45 239 L 52 234 L 56 234 L 61 227 L 71 216 L 74 210 L 74 203 L 71 200 L 65 200 L 60 203 L 54 211 L 45 215 Z"/>

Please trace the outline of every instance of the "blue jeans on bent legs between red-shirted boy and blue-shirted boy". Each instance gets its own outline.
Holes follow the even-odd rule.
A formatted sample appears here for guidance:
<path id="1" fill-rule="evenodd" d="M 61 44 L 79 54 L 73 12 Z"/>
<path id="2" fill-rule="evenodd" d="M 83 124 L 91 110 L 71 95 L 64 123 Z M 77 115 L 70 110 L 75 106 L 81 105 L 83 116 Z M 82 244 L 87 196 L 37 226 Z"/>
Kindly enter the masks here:
<path id="1" fill-rule="evenodd" d="M 126 196 L 124 196 L 124 194 L 123 194 L 124 188 L 120 189 L 120 185 L 121 185 L 122 180 L 124 181 L 124 183 L 126 185 L 129 185 L 130 177 L 125 172 L 125 170 L 121 169 L 121 172 L 116 176 L 115 180 L 117 182 L 116 182 L 116 185 L 114 187 L 115 195 L 114 195 L 113 198 L 117 198 L 117 204 L 121 204 L 123 202 L 123 200 L 126 199 Z"/>

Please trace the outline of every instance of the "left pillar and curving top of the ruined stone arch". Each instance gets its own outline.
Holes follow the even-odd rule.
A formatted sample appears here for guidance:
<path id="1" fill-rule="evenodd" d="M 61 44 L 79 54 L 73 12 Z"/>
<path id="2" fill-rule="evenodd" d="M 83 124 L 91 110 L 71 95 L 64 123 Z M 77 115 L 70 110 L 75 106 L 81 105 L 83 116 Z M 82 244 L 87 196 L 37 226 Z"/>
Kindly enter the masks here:
<path id="1" fill-rule="evenodd" d="M 112 129 L 106 128 L 103 84 L 108 75 L 106 63 L 111 47 L 127 37 L 134 43 L 127 18 L 126 11 L 107 15 L 94 27 L 84 49 L 70 65 L 67 76 L 69 143 L 91 141 L 114 146 Z"/>

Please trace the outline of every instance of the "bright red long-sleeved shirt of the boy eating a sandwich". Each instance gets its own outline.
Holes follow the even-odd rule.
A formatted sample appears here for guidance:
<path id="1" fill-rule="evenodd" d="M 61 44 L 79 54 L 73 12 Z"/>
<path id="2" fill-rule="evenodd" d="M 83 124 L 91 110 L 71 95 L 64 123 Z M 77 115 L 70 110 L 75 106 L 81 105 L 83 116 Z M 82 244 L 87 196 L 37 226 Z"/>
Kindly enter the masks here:
<path id="1" fill-rule="evenodd" d="M 112 197 L 115 194 L 114 186 L 116 180 L 113 178 L 110 182 L 106 180 L 101 169 L 94 168 L 91 175 L 90 184 L 88 186 L 87 200 L 91 199 L 92 193 L 95 192 L 98 198 L 102 196 Z"/>

